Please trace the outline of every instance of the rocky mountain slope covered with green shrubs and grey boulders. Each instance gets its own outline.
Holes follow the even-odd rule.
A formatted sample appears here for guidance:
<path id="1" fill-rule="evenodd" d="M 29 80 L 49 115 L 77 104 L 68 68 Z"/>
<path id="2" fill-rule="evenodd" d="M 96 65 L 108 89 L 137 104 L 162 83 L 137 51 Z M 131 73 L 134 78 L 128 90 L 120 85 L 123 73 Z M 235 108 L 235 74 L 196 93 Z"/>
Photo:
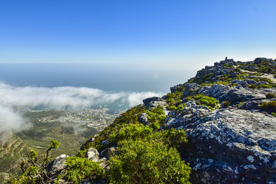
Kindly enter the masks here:
<path id="1" fill-rule="evenodd" d="M 45 183 L 274 183 L 272 74 L 276 61 L 266 58 L 205 66 L 122 113 L 75 157 L 54 159 L 47 177 L 34 175 Z"/>

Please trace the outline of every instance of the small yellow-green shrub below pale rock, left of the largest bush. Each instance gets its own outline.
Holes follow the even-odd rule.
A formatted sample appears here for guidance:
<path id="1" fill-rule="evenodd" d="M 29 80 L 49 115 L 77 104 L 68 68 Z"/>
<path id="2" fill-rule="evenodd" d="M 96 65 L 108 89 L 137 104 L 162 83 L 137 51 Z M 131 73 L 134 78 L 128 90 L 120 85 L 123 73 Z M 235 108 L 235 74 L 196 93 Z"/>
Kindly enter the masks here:
<path id="1" fill-rule="evenodd" d="M 82 157 L 67 157 L 65 165 L 67 169 L 63 174 L 64 179 L 74 183 L 84 182 L 90 179 L 95 182 L 102 178 L 103 168 L 98 163 Z"/>

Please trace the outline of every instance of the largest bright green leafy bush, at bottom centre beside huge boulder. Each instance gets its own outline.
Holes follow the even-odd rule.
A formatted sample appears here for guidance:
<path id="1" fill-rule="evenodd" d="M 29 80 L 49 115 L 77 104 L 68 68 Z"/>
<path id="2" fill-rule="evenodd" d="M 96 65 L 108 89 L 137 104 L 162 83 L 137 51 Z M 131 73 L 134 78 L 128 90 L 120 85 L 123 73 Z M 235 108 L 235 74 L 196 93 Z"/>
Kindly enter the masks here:
<path id="1" fill-rule="evenodd" d="M 119 142 L 119 155 L 108 160 L 110 183 L 190 183 L 191 168 L 175 148 L 155 141 Z"/>

